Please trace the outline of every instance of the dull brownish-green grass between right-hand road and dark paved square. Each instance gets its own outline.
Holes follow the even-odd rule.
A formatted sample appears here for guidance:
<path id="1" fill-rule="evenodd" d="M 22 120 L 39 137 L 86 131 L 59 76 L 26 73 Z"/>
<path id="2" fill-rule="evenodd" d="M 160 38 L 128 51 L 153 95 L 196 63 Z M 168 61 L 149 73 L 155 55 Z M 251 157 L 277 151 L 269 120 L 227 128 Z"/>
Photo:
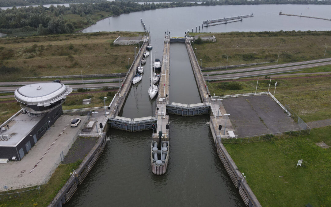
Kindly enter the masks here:
<path id="1" fill-rule="evenodd" d="M 331 117 L 331 78 L 273 79 L 269 91 L 281 104 L 289 105 L 304 122 Z M 215 95 L 254 93 L 257 80 L 209 82 L 209 90 Z M 257 92 L 268 91 L 269 79 L 259 79 Z"/>

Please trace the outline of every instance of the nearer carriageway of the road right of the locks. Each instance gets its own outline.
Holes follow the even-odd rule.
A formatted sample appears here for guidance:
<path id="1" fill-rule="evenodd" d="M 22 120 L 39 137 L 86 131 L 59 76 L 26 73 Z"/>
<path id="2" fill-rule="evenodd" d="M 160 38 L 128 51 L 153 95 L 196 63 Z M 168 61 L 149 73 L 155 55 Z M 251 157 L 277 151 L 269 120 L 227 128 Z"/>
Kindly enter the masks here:
<path id="1" fill-rule="evenodd" d="M 276 68 L 276 69 L 263 70 L 263 71 L 251 71 L 251 72 L 236 73 L 236 74 L 205 76 L 204 78 L 206 80 L 219 80 L 219 79 L 240 78 L 240 77 L 250 77 L 250 76 L 264 76 L 264 75 L 270 75 L 270 74 L 281 73 L 286 71 L 300 70 L 304 68 L 312 68 L 312 67 L 325 66 L 325 65 L 331 65 L 331 62 L 314 63 L 308 65 L 285 67 L 285 68 Z M 236 72 L 238 71 L 236 70 Z"/>

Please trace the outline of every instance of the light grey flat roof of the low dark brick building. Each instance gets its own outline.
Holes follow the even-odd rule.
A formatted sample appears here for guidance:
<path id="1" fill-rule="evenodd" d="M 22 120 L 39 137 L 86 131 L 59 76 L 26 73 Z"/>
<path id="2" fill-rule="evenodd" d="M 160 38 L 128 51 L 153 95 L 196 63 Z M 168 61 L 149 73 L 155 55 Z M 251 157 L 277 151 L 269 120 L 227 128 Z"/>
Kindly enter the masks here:
<path id="1" fill-rule="evenodd" d="M 2 139 L 0 141 L 0 147 L 17 146 L 30 133 L 30 131 L 40 122 L 40 120 L 45 115 L 38 117 L 29 117 L 27 113 L 26 114 L 21 113 L 16 117 L 14 117 L 8 123 L 9 129 L 7 129 L 7 126 L 5 126 L 6 130 L 2 132 L 2 135 L 9 134 L 11 137 L 7 141 L 4 141 Z"/>

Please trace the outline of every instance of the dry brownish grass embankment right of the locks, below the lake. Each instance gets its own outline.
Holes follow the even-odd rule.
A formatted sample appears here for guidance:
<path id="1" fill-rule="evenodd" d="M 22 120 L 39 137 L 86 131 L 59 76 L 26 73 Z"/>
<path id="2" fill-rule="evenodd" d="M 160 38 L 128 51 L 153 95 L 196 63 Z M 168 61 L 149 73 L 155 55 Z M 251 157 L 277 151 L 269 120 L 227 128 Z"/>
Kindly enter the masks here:
<path id="1" fill-rule="evenodd" d="M 323 58 L 331 43 L 329 31 L 201 34 L 204 35 L 214 35 L 216 42 L 194 44 L 203 67 L 225 66 L 227 57 L 228 65 L 277 61 L 278 52 L 278 63 L 318 59 Z M 327 48 L 325 57 L 331 57 L 331 48 Z"/>

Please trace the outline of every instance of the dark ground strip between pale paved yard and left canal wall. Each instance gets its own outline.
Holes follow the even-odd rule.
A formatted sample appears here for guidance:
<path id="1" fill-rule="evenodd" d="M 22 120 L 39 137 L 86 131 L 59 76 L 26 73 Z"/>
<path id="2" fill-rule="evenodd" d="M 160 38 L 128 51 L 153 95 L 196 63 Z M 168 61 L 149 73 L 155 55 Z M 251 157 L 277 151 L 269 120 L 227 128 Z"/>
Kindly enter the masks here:
<path id="1" fill-rule="evenodd" d="M 63 164 L 74 163 L 77 160 L 83 160 L 97 143 L 98 138 L 99 137 L 78 137 L 71 145 L 68 154 L 63 160 Z"/>

